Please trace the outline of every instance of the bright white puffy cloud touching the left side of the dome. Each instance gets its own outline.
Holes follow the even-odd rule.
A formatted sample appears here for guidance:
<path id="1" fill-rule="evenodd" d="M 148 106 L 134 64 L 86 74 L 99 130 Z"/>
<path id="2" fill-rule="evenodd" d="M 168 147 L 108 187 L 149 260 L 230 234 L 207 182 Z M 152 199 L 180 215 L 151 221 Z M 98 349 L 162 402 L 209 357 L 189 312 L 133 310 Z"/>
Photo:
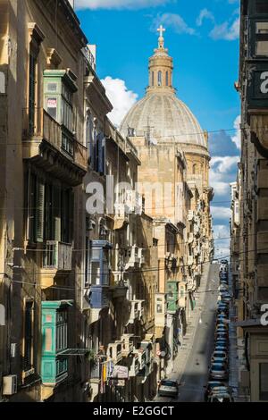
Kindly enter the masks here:
<path id="1" fill-rule="evenodd" d="M 113 111 L 108 114 L 108 117 L 114 125 L 119 126 L 131 106 L 137 102 L 138 95 L 132 90 L 128 90 L 124 80 L 107 76 L 101 81 L 106 89 L 106 95 L 113 105 Z"/>

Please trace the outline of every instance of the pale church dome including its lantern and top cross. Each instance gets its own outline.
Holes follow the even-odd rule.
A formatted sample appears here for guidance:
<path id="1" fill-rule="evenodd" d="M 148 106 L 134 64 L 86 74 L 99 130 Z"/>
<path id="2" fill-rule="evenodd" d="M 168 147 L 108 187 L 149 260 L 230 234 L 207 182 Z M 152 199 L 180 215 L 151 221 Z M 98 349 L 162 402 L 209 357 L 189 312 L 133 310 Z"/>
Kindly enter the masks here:
<path id="1" fill-rule="evenodd" d="M 164 47 L 162 25 L 158 48 L 149 59 L 147 95 L 138 101 L 121 122 L 124 136 L 146 137 L 152 143 L 175 142 L 205 147 L 207 139 L 197 118 L 172 87 L 173 60 Z"/>

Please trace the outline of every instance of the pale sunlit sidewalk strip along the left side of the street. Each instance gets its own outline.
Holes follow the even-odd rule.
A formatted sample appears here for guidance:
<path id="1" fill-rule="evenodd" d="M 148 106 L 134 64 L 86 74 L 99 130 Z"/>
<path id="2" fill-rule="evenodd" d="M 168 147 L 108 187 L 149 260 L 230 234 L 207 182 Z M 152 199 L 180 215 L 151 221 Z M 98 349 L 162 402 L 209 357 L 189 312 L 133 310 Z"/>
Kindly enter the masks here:
<path id="1" fill-rule="evenodd" d="M 202 312 L 202 307 L 205 300 L 205 293 L 202 293 L 202 292 L 206 290 L 207 283 L 209 281 L 209 278 L 208 278 L 209 269 L 210 269 L 210 263 L 205 264 L 204 273 L 202 276 L 202 280 L 200 281 L 200 287 L 198 289 L 200 294 L 197 295 L 198 296 L 197 306 L 195 308 L 195 311 L 193 312 L 192 317 L 190 318 L 188 322 L 187 332 L 183 338 L 182 346 L 180 347 L 178 356 L 175 358 L 173 362 L 174 365 L 173 365 L 172 373 L 169 374 L 170 379 L 174 379 L 179 382 L 181 381 L 181 378 L 184 374 L 185 367 L 188 362 L 188 356 L 191 352 L 191 349 L 195 340 L 195 335 L 197 332 L 197 325 L 199 323 L 200 314 Z"/>

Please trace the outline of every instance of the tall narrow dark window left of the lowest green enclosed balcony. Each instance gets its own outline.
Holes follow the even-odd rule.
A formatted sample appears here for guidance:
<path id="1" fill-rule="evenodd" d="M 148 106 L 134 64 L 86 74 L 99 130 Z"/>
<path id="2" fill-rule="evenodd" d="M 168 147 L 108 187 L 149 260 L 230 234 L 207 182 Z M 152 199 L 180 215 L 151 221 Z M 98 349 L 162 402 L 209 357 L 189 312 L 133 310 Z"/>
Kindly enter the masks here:
<path id="1" fill-rule="evenodd" d="M 33 301 L 28 300 L 25 304 L 24 312 L 24 349 L 23 349 L 23 370 L 27 372 L 32 366 L 32 346 L 33 346 Z"/>

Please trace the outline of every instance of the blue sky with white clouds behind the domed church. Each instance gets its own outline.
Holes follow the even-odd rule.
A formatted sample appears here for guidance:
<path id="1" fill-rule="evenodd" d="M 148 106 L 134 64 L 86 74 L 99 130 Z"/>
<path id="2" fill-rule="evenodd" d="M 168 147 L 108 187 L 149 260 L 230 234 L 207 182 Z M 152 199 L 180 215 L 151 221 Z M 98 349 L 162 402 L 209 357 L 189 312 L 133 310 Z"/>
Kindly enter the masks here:
<path id="1" fill-rule="evenodd" d="M 178 97 L 210 135 L 213 214 L 217 239 L 229 233 L 229 182 L 239 160 L 239 0 L 76 0 L 76 11 L 89 43 L 97 46 L 97 74 L 104 80 L 114 122 L 147 87 L 147 60 L 163 24 L 165 46 L 174 60 Z M 216 208 L 215 208 L 216 207 Z M 222 255 L 228 240 L 216 240 Z"/>

